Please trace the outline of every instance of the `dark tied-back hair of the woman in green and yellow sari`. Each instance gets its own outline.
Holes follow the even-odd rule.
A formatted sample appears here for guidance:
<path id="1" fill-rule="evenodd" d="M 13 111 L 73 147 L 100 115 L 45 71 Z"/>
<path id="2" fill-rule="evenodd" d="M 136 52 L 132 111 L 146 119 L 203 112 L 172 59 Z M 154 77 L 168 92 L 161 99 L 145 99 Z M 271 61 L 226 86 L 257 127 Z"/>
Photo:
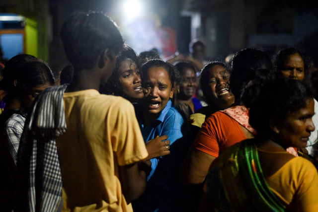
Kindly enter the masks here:
<path id="1" fill-rule="evenodd" d="M 286 77 L 274 78 L 257 88 L 258 95 L 249 105 L 249 124 L 262 137 L 272 135 L 271 119 L 274 118 L 274 123 L 284 123 L 289 114 L 306 107 L 314 97 L 308 84 Z"/>

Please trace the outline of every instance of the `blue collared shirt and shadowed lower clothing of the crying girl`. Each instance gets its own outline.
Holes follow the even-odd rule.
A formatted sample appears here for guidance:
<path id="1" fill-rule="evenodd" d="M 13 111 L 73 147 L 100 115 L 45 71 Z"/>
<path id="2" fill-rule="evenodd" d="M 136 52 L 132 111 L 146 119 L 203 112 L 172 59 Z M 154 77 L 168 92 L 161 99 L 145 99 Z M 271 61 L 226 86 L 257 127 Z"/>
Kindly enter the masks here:
<path id="1" fill-rule="evenodd" d="M 146 190 L 133 202 L 133 209 L 136 212 L 180 211 L 177 203 L 184 199 L 184 192 L 178 187 L 178 171 L 192 142 L 186 118 L 169 100 L 156 120 L 145 126 L 140 119 L 139 126 L 145 142 L 167 135 L 170 154 L 151 159 L 152 171 Z"/>

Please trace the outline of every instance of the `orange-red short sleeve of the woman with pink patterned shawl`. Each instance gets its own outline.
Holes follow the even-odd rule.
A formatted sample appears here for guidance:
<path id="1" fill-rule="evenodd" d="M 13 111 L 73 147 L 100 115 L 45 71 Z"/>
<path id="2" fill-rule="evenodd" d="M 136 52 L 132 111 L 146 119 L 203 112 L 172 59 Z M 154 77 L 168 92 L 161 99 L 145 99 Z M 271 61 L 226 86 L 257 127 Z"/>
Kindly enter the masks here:
<path id="1" fill-rule="evenodd" d="M 218 157 L 226 148 L 245 139 L 239 123 L 218 111 L 203 123 L 193 145 L 200 151 Z"/>

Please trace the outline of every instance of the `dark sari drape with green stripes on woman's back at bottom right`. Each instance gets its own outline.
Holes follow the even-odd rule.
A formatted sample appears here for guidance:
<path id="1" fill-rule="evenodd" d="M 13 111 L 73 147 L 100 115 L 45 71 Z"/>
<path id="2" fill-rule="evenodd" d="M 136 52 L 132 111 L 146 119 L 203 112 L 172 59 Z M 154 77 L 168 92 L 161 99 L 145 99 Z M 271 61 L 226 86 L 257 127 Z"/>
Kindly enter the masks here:
<path id="1" fill-rule="evenodd" d="M 216 211 L 274 211 L 285 207 L 268 187 L 253 140 L 224 151 L 207 176 L 207 194 Z"/>

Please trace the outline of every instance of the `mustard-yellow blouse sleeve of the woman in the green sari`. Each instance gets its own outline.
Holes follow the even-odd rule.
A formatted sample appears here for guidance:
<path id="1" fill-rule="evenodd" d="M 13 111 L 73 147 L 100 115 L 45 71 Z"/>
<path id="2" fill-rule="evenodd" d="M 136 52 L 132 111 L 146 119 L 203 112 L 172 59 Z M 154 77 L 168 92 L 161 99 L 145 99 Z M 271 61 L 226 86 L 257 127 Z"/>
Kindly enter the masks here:
<path id="1" fill-rule="evenodd" d="M 266 182 L 279 200 L 292 211 L 318 211 L 318 173 L 309 160 L 295 157 Z"/>

